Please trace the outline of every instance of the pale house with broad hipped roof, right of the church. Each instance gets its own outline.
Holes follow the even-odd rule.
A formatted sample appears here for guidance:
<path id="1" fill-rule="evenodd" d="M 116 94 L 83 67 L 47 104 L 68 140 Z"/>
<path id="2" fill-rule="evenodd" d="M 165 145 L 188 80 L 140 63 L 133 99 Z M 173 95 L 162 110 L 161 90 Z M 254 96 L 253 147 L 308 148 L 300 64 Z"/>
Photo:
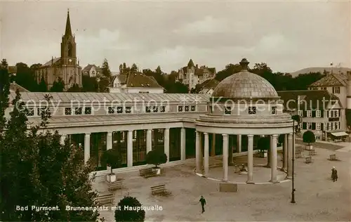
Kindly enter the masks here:
<path id="1" fill-rule="evenodd" d="M 154 77 L 141 72 L 115 75 L 109 90 L 110 93 L 164 93 Z"/>

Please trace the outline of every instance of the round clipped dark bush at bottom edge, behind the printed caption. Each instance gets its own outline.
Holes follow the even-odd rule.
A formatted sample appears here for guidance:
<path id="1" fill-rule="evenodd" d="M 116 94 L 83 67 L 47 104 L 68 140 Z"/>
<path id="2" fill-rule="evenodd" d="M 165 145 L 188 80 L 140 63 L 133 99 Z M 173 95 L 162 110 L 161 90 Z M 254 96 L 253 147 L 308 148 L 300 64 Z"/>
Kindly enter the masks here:
<path id="1" fill-rule="evenodd" d="M 140 204 L 140 202 L 135 197 L 127 196 L 120 200 L 117 204 L 117 209 L 114 211 L 114 219 L 118 222 L 143 222 L 145 221 L 145 210 L 142 209 L 142 204 Z"/>

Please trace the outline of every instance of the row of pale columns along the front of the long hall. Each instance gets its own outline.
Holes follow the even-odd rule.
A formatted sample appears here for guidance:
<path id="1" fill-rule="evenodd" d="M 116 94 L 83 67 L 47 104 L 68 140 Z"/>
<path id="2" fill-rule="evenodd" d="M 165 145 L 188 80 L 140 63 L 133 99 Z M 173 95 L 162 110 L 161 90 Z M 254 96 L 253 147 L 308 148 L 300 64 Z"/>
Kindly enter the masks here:
<path id="1" fill-rule="evenodd" d="M 85 133 L 84 137 L 84 162 L 90 158 L 90 136 L 91 133 Z M 60 142 L 65 143 L 66 134 L 61 135 Z M 128 131 L 127 136 L 127 166 L 133 166 L 133 130 Z M 107 150 L 112 149 L 112 132 L 107 132 Z M 147 129 L 146 152 L 152 150 L 152 129 Z M 169 162 L 169 128 L 164 129 L 164 153 L 167 155 Z M 185 160 L 185 128 L 180 129 L 180 159 Z"/>

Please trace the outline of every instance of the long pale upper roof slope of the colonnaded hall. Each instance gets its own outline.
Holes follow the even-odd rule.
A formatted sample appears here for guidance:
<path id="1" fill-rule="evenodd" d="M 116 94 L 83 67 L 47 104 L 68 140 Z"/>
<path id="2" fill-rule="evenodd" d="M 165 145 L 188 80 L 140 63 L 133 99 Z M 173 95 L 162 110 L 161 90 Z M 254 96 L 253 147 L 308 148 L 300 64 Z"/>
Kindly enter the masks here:
<path id="1" fill-rule="evenodd" d="M 52 100 L 60 103 L 71 103 L 72 100 L 83 102 L 85 100 L 97 100 L 100 102 L 105 101 L 119 101 L 128 102 L 135 100 L 155 100 L 159 101 L 170 101 L 170 102 L 198 102 L 206 103 L 210 95 L 207 94 L 190 94 L 190 93 L 21 93 L 21 98 L 24 101 L 32 100 L 39 103 L 45 100 L 45 95 L 52 96 Z M 10 101 L 15 98 L 15 93 L 10 93 Z"/>

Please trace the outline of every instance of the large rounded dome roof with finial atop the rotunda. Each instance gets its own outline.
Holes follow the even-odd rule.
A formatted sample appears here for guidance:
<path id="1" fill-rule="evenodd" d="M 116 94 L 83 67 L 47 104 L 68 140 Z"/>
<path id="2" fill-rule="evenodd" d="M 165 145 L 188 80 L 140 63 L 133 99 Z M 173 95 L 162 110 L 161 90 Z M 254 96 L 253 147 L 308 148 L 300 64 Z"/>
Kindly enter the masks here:
<path id="1" fill-rule="evenodd" d="M 248 72 L 249 62 L 246 58 L 240 62 L 241 72 L 232 74 L 223 79 L 214 89 L 213 97 L 224 98 L 277 98 L 275 91 L 269 81 L 258 74 Z"/>

